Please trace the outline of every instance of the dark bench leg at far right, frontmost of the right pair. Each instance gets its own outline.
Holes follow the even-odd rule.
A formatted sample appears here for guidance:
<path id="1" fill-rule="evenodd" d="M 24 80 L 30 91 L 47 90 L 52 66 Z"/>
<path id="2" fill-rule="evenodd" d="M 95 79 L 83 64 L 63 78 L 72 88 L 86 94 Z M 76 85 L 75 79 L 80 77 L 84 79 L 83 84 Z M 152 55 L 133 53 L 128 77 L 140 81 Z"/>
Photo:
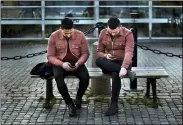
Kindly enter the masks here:
<path id="1" fill-rule="evenodd" d="M 156 79 L 151 79 L 152 93 L 153 93 L 153 107 L 157 108 L 157 94 L 156 94 Z"/>

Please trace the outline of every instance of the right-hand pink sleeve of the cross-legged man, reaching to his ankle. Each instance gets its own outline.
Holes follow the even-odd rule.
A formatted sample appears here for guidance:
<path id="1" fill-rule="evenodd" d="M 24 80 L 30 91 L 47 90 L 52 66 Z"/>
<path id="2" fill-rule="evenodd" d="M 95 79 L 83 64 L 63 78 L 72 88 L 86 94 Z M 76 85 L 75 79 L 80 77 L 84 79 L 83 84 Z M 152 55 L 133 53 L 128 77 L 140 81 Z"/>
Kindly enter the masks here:
<path id="1" fill-rule="evenodd" d="M 127 69 L 132 62 L 134 52 L 134 37 L 133 33 L 130 32 L 126 36 L 126 46 L 125 46 L 125 57 L 122 63 L 122 67 Z"/>

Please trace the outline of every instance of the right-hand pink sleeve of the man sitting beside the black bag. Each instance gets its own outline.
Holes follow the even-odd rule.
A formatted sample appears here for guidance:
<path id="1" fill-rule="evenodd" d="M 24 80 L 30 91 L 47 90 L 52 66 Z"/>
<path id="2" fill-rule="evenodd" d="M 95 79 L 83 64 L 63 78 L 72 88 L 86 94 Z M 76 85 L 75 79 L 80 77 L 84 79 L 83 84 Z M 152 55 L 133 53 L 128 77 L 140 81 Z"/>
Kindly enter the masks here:
<path id="1" fill-rule="evenodd" d="M 88 60 L 88 57 L 90 55 L 87 40 L 83 33 L 82 33 L 81 45 L 82 45 L 81 46 L 81 56 L 80 56 L 79 60 L 77 61 L 77 63 L 79 65 L 83 65 Z"/>

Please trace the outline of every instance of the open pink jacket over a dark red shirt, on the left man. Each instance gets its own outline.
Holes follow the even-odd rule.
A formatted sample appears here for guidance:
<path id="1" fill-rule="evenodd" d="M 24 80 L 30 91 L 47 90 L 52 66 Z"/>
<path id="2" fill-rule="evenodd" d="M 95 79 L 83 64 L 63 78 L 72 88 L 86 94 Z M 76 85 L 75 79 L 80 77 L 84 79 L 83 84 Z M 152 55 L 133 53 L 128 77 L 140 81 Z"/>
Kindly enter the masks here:
<path id="1" fill-rule="evenodd" d="M 78 58 L 77 63 L 83 65 L 88 57 L 89 50 L 86 38 L 81 31 L 74 29 L 69 40 L 71 53 Z M 67 53 L 67 40 L 63 37 L 62 30 L 53 32 L 48 40 L 47 59 L 48 62 L 62 66 L 62 59 Z"/>

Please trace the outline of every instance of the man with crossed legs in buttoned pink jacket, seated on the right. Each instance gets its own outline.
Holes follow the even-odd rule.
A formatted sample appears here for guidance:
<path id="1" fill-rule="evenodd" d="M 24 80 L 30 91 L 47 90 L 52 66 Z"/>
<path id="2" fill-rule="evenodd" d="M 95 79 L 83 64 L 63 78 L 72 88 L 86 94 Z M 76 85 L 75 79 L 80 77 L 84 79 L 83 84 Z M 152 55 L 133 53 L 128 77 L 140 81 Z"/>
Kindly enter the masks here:
<path id="1" fill-rule="evenodd" d="M 111 104 L 105 115 L 109 116 L 117 112 L 117 101 L 121 89 L 121 78 L 127 73 L 133 78 L 131 63 L 134 51 L 133 33 L 120 25 L 118 18 L 111 17 L 108 27 L 99 35 L 97 46 L 96 65 L 103 73 L 112 74 Z"/>

